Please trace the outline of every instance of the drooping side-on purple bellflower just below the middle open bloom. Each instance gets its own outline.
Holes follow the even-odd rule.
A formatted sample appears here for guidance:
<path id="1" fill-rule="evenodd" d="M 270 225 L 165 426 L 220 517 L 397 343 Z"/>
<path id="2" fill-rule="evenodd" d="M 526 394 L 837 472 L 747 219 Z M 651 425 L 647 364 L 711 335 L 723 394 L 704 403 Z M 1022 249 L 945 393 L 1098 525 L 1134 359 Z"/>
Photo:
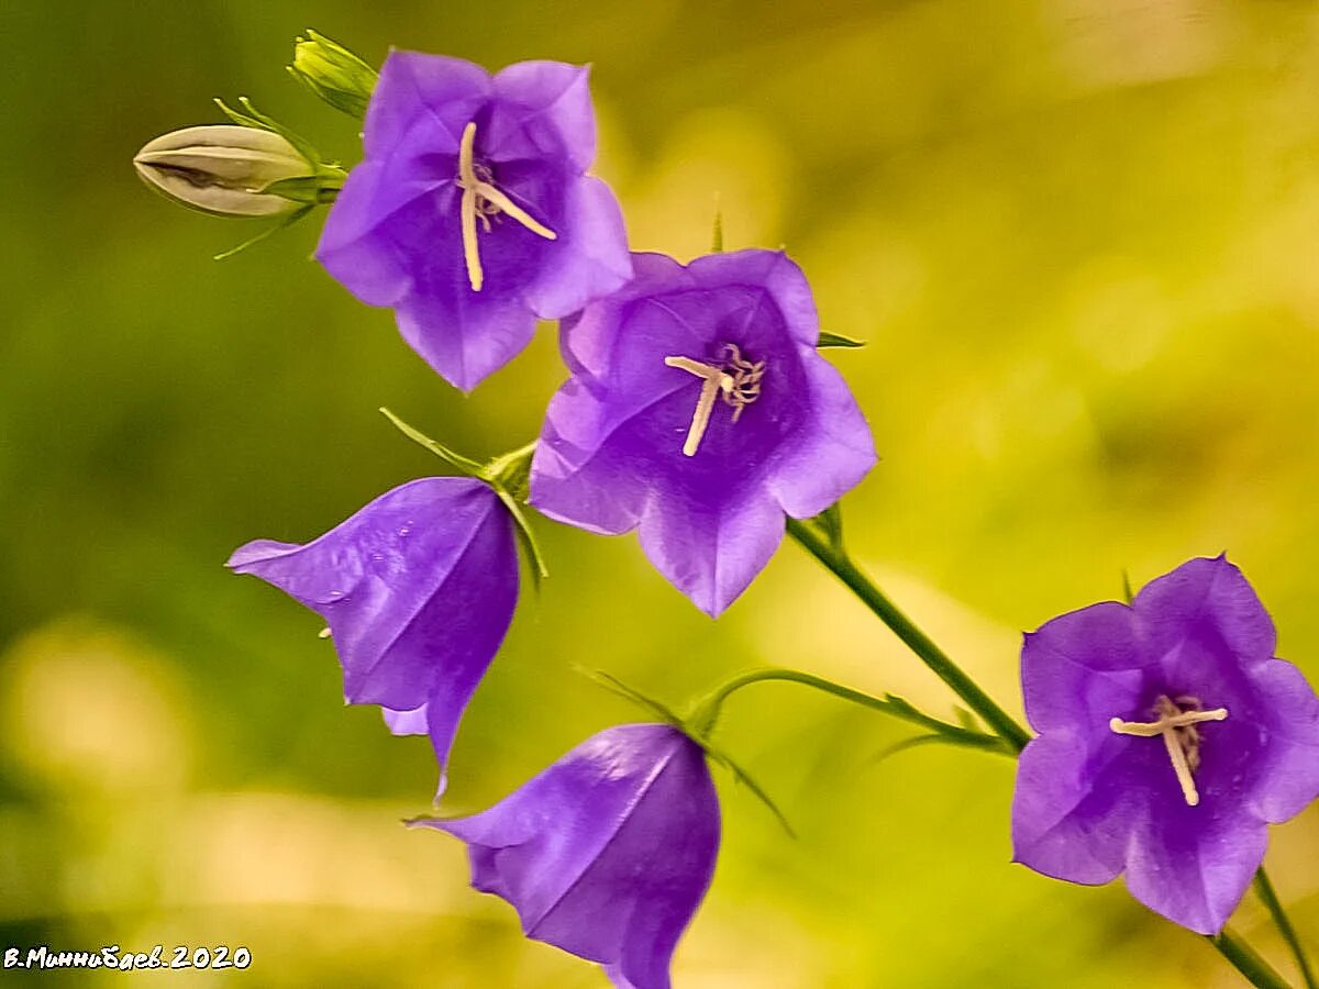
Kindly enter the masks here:
<path id="1" fill-rule="evenodd" d="M 513 520 L 484 481 L 422 477 L 319 539 L 259 539 L 228 566 L 321 614 L 344 698 L 380 704 L 394 734 L 429 734 L 439 790 L 458 721 L 517 604 Z"/>

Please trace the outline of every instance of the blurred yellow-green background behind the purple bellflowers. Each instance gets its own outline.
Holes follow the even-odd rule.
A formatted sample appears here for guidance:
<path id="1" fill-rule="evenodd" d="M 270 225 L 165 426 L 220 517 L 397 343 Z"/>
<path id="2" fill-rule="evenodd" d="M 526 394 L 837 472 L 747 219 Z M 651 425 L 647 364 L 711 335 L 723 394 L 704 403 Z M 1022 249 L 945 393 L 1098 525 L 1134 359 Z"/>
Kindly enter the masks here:
<path id="1" fill-rule="evenodd" d="M 534 435 L 553 330 L 472 397 L 307 260 L 319 216 L 226 262 L 241 222 L 131 166 L 251 95 L 352 162 L 286 78 L 315 26 L 488 67 L 594 63 L 596 171 L 634 247 L 783 244 L 882 460 L 857 556 L 1013 709 L 1022 629 L 1227 550 L 1319 680 L 1319 8 L 1302 0 L 165 0 L 0 5 L 0 942 L 247 945 L 170 985 L 603 986 L 406 832 L 429 746 L 344 708 L 321 621 L 220 566 L 305 541 L 435 460 L 376 414 L 487 455 Z M 711 624 L 634 541 L 545 524 L 454 753 L 487 806 L 637 712 L 789 663 L 951 713 L 940 686 L 785 546 Z M 1006 760 L 933 748 L 791 687 L 740 695 L 725 839 L 683 989 L 1235 985 L 1120 884 L 1009 864 Z M 1319 938 L 1319 811 L 1269 862 Z M 1285 959 L 1252 897 L 1237 927 Z M 1290 971 L 1286 969 L 1285 971 Z M 49 985 L 61 976 L 0 973 Z M 153 976 L 70 976 L 119 985 Z"/>

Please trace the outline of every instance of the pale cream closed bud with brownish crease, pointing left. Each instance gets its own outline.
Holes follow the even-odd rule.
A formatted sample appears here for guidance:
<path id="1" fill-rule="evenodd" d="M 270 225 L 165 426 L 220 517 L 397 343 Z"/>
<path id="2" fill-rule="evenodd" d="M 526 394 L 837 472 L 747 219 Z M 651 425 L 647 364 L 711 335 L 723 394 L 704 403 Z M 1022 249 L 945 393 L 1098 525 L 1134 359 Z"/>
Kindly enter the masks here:
<path id="1" fill-rule="evenodd" d="M 146 185 L 220 216 L 276 216 L 315 202 L 317 167 L 284 137 L 255 127 L 189 127 L 133 158 Z"/>

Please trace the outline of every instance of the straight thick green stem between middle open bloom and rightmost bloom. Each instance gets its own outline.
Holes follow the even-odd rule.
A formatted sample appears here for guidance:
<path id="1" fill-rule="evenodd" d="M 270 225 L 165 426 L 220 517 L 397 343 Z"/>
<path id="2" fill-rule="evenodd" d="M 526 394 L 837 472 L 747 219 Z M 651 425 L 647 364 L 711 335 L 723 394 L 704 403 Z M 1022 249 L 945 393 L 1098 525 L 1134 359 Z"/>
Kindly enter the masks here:
<path id="1" fill-rule="evenodd" d="M 810 525 L 795 518 L 787 520 L 787 533 L 823 563 L 834 576 L 847 584 L 848 589 L 860 597 L 880 621 L 888 625 L 930 667 L 935 676 L 948 684 L 967 707 L 980 715 L 984 723 L 1012 746 L 1013 752 L 1021 752 L 1026 748 L 1030 732 L 1017 724 L 1012 715 L 980 690 L 980 686 L 967 676 L 962 667 L 952 662 L 906 614 L 898 611 L 898 607 L 885 597 L 874 582 L 859 570 L 844 553 L 831 546 L 828 539 L 815 533 Z"/>

